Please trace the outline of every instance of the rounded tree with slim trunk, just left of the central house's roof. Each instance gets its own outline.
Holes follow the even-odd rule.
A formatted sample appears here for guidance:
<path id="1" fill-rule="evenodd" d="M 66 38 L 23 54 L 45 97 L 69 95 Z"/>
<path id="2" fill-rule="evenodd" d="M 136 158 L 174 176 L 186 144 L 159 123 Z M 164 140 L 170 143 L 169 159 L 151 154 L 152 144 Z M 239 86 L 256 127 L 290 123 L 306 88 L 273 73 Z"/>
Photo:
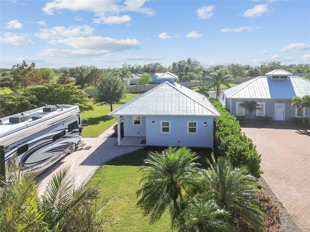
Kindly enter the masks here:
<path id="1" fill-rule="evenodd" d="M 97 87 L 97 91 L 98 93 L 94 96 L 95 102 L 108 103 L 112 111 L 112 104 L 119 103 L 124 98 L 127 89 L 118 76 L 110 73 L 103 77 Z"/>

